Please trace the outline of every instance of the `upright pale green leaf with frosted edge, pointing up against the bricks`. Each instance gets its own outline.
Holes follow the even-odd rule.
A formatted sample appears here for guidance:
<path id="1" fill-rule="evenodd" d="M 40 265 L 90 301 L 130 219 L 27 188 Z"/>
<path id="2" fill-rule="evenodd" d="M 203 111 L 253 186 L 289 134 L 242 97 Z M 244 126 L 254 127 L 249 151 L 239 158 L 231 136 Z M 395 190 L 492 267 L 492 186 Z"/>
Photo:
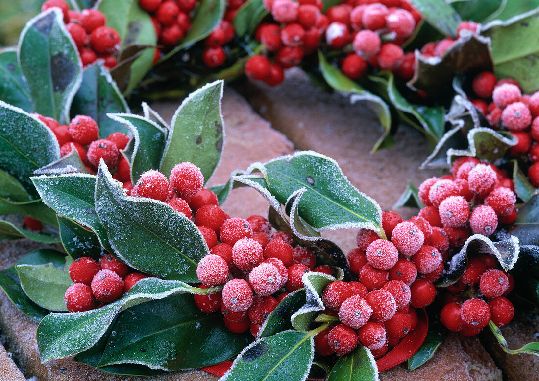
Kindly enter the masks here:
<path id="1" fill-rule="evenodd" d="M 208 83 L 191 93 L 176 110 L 160 171 L 165 176 L 182 161 L 201 168 L 208 181 L 221 159 L 225 137 L 221 112 L 224 81 Z"/>

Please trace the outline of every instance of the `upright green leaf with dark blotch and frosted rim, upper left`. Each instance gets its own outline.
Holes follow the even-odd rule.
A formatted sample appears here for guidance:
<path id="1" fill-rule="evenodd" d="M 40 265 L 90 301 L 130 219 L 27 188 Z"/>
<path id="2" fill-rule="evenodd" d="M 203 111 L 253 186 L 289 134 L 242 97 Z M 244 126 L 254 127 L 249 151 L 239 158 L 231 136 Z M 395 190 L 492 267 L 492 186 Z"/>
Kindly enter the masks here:
<path id="1" fill-rule="evenodd" d="M 82 63 L 59 9 L 40 13 L 26 24 L 20 33 L 18 59 L 34 110 L 68 124 Z"/>

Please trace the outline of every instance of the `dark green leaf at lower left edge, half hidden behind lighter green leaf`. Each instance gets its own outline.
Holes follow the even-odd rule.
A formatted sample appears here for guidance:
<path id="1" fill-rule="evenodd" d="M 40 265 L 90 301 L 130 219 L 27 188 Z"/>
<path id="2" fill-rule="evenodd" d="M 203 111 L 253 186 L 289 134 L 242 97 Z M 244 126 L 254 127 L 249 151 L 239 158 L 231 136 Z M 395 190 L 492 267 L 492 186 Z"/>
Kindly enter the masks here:
<path id="1" fill-rule="evenodd" d="M 61 267 L 65 264 L 64 254 L 56 250 L 43 249 L 28 253 L 20 258 L 15 265 L 31 264 L 43 265 L 52 263 L 54 266 Z M 49 311 L 39 307 L 24 293 L 20 287 L 20 280 L 15 270 L 15 265 L 0 271 L 0 287 L 5 292 L 9 300 L 26 316 L 40 321 Z"/>

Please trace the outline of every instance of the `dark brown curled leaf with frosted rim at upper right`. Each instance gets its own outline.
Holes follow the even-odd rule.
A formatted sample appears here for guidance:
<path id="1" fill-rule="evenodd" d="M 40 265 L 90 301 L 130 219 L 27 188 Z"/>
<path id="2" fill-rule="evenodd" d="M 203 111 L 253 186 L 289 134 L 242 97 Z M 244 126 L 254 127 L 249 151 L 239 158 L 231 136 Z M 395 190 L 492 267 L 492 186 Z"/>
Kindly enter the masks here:
<path id="1" fill-rule="evenodd" d="M 416 52 L 417 69 L 408 82 L 412 88 L 439 96 L 457 73 L 492 71 L 490 40 L 474 33 L 461 33 L 440 57 L 423 57 Z"/>

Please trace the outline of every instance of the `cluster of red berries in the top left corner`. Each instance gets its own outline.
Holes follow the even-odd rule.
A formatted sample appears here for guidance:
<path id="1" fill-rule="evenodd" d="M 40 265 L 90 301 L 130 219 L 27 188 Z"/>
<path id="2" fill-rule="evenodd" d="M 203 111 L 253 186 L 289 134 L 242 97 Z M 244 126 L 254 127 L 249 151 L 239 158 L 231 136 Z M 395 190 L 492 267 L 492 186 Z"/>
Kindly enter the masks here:
<path id="1" fill-rule="evenodd" d="M 118 61 L 114 53 L 120 47 L 120 36 L 114 29 L 105 26 L 107 18 L 96 9 L 84 9 L 77 12 L 69 9 L 64 0 L 47 0 L 41 8 L 45 11 L 59 8 L 64 14 L 64 23 L 79 50 L 82 66 L 89 65 L 96 59 L 104 60 L 103 65 L 112 69 Z"/>

